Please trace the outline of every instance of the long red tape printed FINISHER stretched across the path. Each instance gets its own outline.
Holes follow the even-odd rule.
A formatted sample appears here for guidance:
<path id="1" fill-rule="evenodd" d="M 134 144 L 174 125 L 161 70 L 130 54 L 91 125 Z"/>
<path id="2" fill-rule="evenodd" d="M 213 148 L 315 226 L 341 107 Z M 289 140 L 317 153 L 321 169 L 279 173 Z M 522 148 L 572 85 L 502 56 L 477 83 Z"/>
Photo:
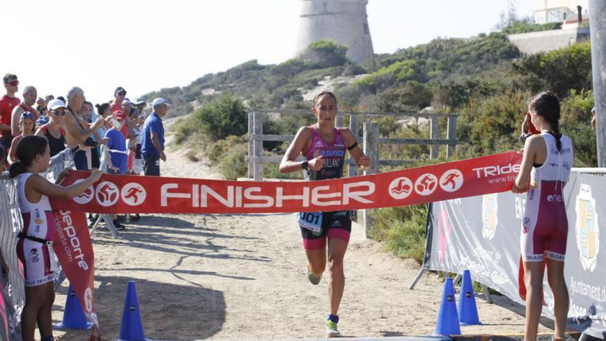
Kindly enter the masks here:
<path id="1" fill-rule="evenodd" d="M 54 209 L 93 213 L 241 214 L 342 211 L 430 203 L 509 191 L 522 156 L 507 152 L 393 172 L 321 181 L 253 182 L 103 175 Z M 70 173 L 63 184 L 86 178 Z"/>

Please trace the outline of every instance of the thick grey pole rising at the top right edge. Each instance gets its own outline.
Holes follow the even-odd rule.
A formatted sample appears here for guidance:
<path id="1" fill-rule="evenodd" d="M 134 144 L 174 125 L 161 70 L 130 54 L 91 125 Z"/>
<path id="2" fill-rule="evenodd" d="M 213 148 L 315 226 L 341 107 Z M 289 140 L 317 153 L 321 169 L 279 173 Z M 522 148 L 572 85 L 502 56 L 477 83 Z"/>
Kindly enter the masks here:
<path id="1" fill-rule="evenodd" d="M 598 167 L 606 167 L 606 1 L 589 0 Z"/>

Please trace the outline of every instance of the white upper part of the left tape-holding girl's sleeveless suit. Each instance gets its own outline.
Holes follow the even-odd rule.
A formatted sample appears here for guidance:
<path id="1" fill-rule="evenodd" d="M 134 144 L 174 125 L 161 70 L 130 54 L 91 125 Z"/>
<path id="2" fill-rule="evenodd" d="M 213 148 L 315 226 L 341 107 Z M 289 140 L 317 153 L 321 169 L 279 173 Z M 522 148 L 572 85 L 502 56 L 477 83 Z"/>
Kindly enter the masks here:
<path id="1" fill-rule="evenodd" d="M 19 209 L 21 209 L 21 217 L 23 218 L 23 233 L 46 240 L 54 240 L 56 230 L 48 196 L 41 196 L 38 203 L 30 203 L 28 198 L 25 197 L 25 181 L 30 176 L 32 176 L 32 173 L 20 174 L 17 182 Z"/>

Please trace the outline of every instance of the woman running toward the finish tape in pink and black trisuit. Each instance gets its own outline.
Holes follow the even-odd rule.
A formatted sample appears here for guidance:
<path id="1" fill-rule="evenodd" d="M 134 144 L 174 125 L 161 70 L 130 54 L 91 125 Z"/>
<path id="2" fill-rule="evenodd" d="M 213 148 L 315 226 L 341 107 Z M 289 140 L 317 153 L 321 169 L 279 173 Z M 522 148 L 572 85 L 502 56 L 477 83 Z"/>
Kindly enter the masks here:
<path id="1" fill-rule="evenodd" d="M 357 145 L 348 128 L 334 127 L 337 98 L 322 91 L 313 99 L 314 125 L 301 127 L 286 150 L 280 172 L 303 170 L 306 180 L 341 178 L 347 151 L 360 167 L 370 167 L 370 158 Z M 295 161 L 302 154 L 306 161 Z M 313 285 L 321 278 L 328 262 L 329 313 L 326 336 L 339 336 L 339 304 L 345 287 L 343 258 L 351 233 L 350 211 L 305 212 L 297 215 L 307 256 L 307 277 Z M 309 223 L 311 222 L 311 223 Z M 326 247 L 328 246 L 328 254 Z"/>

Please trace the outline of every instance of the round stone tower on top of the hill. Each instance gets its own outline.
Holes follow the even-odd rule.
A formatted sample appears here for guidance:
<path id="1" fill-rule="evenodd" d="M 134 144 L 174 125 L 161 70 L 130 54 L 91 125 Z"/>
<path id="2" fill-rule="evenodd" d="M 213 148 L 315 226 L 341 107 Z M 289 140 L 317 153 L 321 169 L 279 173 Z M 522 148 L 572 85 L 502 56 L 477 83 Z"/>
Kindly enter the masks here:
<path id="1" fill-rule="evenodd" d="M 331 39 L 346 45 L 347 58 L 357 63 L 373 56 L 368 29 L 368 0 L 302 0 L 299 35 L 295 55 L 309 44 Z"/>

